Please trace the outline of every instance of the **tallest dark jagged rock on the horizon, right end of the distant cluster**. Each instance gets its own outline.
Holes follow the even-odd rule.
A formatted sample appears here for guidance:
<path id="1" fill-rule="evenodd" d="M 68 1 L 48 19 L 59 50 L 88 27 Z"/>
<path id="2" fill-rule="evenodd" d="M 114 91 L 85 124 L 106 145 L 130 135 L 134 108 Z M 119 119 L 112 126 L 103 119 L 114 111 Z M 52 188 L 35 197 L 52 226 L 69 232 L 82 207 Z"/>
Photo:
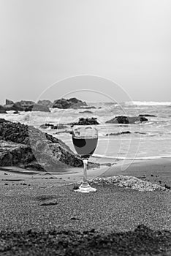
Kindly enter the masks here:
<path id="1" fill-rule="evenodd" d="M 86 102 L 83 102 L 80 99 L 77 98 L 71 98 L 71 99 L 56 99 L 53 102 L 52 108 L 80 108 L 83 106 L 87 106 Z"/>

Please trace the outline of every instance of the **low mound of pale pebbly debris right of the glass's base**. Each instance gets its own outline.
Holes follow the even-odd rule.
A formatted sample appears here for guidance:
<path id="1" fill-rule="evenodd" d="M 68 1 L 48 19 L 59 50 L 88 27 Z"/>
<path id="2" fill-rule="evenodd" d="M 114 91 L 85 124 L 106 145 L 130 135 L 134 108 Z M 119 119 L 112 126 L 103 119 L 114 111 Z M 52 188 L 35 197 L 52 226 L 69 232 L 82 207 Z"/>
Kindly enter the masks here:
<path id="1" fill-rule="evenodd" d="M 167 187 L 162 187 L 158 184 L 152 184 L 149 181 L 142 181 L 140 178 L 134 176 L 111 176 L 107 178 L 97 177 L 91 180 L 94 184 L 113 184 L 118 187 L 125 187 L 129 189 L 136 189 L 141 192 L 145 191 L 166 191 Z"/>

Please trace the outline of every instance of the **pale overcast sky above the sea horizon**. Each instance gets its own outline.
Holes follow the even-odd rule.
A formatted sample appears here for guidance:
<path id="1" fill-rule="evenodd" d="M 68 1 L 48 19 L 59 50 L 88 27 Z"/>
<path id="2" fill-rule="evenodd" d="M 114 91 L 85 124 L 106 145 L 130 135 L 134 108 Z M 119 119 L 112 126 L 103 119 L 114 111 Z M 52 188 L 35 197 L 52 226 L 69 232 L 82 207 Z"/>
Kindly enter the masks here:
<path id="1" fill-rule="evenodd" d="M 170 0 L 0 0 L 0 103 L 36 100 L 84 74 L 113 80 L 134 100 L 171 101 L 170 10 Z M 48 97 L 66 92 L 59 83 Z"/>

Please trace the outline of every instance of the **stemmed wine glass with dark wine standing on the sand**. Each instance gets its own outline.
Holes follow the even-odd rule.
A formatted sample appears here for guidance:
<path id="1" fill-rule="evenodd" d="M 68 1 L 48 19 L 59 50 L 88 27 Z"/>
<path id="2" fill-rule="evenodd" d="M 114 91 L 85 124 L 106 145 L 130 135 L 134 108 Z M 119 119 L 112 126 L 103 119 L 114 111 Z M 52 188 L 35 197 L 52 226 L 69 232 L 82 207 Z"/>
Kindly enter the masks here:
<path id="1" fill-rule="evenodd" d="M 88 184 L 87 180 L 87 165 L 88 159 L 94 154 L 98 141 L 98 131 L 96 127 L 90 125 L 75 125 L 72 129 L 72 142 L 75 146 L 75 151 L 83 159 L 83 181 L 79 189 L 75 192 L 96 192 L 96 189 Z"/>

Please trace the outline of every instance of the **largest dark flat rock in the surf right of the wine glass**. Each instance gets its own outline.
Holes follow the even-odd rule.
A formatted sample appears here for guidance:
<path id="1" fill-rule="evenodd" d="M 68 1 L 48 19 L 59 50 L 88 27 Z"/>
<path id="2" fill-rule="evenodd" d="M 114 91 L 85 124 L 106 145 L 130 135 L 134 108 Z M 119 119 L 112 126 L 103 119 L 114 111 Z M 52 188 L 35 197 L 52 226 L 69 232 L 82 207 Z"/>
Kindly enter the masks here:
<path id="1" fill-rule="evenodd" d="M 136 124 L 143 121 L 148 121 L 148 119 L 143 116 L 115 116 L 106 121 L 106 124 Z"/>

